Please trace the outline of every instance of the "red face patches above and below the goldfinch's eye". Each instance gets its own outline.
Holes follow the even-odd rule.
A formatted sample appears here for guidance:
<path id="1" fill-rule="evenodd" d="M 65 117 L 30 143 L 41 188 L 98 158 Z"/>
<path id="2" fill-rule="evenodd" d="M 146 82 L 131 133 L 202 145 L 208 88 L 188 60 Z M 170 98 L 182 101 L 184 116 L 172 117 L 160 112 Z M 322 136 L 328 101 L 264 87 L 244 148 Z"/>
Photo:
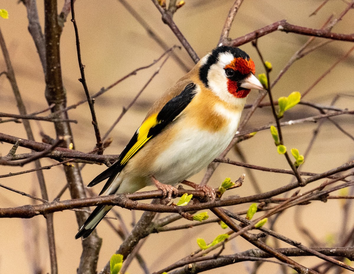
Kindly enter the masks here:
<path id="1" fill-rule="evenodd" d="M 247 75 L 249 73 L 255 74 L 256 67 L 255 63 L 250 58 L 246 60 L 242 57 L 234 58 L 229 65 L 224 67 L 225 69 L 231 68 L 234 71 L 239 71 L 243 75 Z M 244 98 L 250 93 L 250 89 L 238 89 L 238 85 L 236 81 L 232 81 L 231 79 L 227 79 L 227 89 L 229 93 L 234 95 L 237 98 Z"/>

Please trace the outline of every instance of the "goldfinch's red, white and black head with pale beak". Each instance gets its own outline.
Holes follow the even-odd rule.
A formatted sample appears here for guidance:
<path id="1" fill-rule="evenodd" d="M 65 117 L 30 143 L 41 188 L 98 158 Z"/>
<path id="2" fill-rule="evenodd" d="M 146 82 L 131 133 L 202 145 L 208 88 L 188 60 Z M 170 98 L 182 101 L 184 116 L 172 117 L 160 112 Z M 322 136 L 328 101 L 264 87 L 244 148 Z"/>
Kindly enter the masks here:
<path id="1" fill-rule="evenodd" d="M 255 63 L 239 48 L 220 46 L 213 49 L 200 60 L 199 77 L 226 102 L 245 98 L 251 89 L 263 89 L 255 77 Z"/>

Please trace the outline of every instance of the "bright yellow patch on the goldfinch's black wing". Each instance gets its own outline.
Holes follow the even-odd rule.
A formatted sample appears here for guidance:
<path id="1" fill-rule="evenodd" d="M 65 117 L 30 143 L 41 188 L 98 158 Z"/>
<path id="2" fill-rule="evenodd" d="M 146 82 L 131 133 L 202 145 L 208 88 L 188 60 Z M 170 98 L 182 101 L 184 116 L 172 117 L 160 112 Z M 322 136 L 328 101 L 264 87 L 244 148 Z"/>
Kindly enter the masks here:
<path id="1" fill-rule="evenodd" d="M 149 130 L 158 124 L 156 120 L 157 113 L 152 114 L 138 129 L 138 138 L 137 142 L 132 146 L 132 148 L 127 152 L 122 161 L 121 165 L 124 165 L 138 150 L 141 148 L 149 139 L 152 137 L 148 137 Z"/>

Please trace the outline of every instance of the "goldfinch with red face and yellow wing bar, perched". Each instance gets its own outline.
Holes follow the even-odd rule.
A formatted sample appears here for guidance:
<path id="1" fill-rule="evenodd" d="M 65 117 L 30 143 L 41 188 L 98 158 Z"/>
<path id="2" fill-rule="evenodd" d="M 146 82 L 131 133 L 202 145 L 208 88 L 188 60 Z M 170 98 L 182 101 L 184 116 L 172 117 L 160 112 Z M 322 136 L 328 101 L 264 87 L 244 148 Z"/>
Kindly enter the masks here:
<path id="1" fill-rule="evenodd" d="M 249 55 L 237 47 L 213 49 L 153 104 L 118 160 L 88 187 L 108 178 L 99 195 L 111 195 L 156 185 L 169 201 L 173 185 L 185 183 L 215 197 L 212 187 L 185 180 L 232 141 L 251 89 L 263 86 Z M 112 207 L 97 206 L 75 238 L 88 237 Z"/>

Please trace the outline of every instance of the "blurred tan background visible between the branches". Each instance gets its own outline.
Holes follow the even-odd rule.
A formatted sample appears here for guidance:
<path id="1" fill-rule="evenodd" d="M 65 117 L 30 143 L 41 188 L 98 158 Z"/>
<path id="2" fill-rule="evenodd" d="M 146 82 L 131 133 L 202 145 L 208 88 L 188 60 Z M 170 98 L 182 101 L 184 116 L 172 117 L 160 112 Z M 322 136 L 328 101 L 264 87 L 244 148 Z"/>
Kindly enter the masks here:
<path id="1" fill-rule="evenodd" d="M 216 47 L 225 18 L 233 2 L 232 0 L 186 0 L 186 4 L 176 12 L 174 20 L 177 26 L 200 58 Z M 326 22 L 331 14 L 338 17 L 347 6 L 344 1 L 332 0 L 315 16 L 309 17 L 321 2 L 322 0 L 245 0 L 235 17 L 230 37 L 236 38 L 242 36 L 281 19 L 287 19 L 289 23 L 295 25 L 321 28 L 322 24 Z M 37 4 L 43 28 L 43 3 L 42 1 L 38 1 Z M 58 1 L 59 12 L 63 4 L 64 1 Z M 169 47 L 174 44 L 179 45 L 177 38 L 173 35 L 169 27 L 162 23 L 160 13 L 151 1 L 130 0 L 129 4 Z M 0 18 L 0 27 L 10 52 L 19 89 L 27 111 L 28 113 L 32 113 L 45 109 L 47 102 L 44 97 L 44 75 L 34 42 L 27 30 L 28 19 L 25 7 L 22 3 L 17 3 L 17 1 L 3 0 L 1 1 L 0 8 L 6 9 L 9 13 L 9 19 Z M 147 31 L 119 1 L 78 0 L 75 2 L 75 16 L 79 28 L 82 62 L 86 66 L 86 81 L 91 95 L 99 91 L 102 87 L 108 87 L 132 70 L 150 64 L 164 52 L 160 45 L 148 35 Z M 78 81 L 80 71 L 76 55 L 74 29 L 70 18 L 71 16 L 69 15 L 61 36 L 61 65 L 63 82 L 67 90 L 68 105 L 72 105 L 85 98 L 82 85 Z M 333 31 L 345 34 L 352 33 L 353 22 L 354 11 L 351 10 L 333 28 Z M 308 37 L 305 36 L 286 34 L 284 32 L 273 32 L 259 39 L 258 45 L 265 60 L 273 64 L 273 71 L 271 73 L 273 79 L 307 39 Z M 314 44 L 322 41 L 324 40 L 317 39 Z M 292 91 L 299 91 L 301 93 L 305 91 L 352 46 L 352 43 L 334 41 L 295 62 L 274 87 L 273 94 L 275 99 L 280 96 L 287 96 Z M 245 50 L 255 61 L 256 75 L 263 73 L 263 66 L 251 43 L 241 46 L 241 49 Z M 176 49 L 175 53 L 182 60 L 185 68 L 190 69 L 193 67 L 194 63 L 184 49 Z M 338 64 L 307 95 L 306 101 L 329 105 L 338 93 L 354 95 L 353 60 L 353 56 L 349 56 L 344 62 Z M 129 105 L 158 66 L 159 64 L 139 71 L 136 76 L 126 79 L 96 99 L 96 115 L 102 133 L 105 133 L 109 129 L 119 116 L 122 107 Z M 150 106 L 167 88 L 186 73 L 185 68 L 175 59 L 169 58 L 160 73 L 153 79 L 110 134 L 113 142 L 105 150 L 105 154 L 119 154 L 121 152 L 144 119 Z M 1 55 L 0 72 L 5 70 L 5 62 Z M 256 97 L 257 92 L 252 92 L 247 103 L 252 103 Z M 352 109 L 353 103 L 353 98 L 342 97 L 337 101 L 336 106 Z M 16 101 L 5 76 L 0 77 L 0 111 L 18 113 Z M 299 119 L 317 114 L 319 114 L 318 111 L 313 108 L 296 106 L 286 113 L 284 120 Z M 72 124 L 76 149 L 84 152 L 92 150 L 96 144 L 96 139 L 88 105 L 84 104 L 70 110 L 69 117 L 70 119 L 78 120 L 78 124 Z M 354 123 L 351 116 L 342 115 L 341 117 L 334 118 L 334 120 L 340 123 L 350 134 L 354 134 Z M 273 116 L 269 107 L 257 109 L 245 129 L 268 124 L 272 121 Z M 36 141 L 41 141 L 40 130 L 55 138 L 52 123 L 31 121 L 31 125 Z M 308 123 L 284 127 L 283 134 L 286 146 L 288 148 L 296 147 L 303 154 L 316 126 L 317 124 Z M 17 123 L 0 123 L 0 132 L 22 138 L 26 136 L 23 125 Z M 11 145 L 6 143 L 0 144 L 1 155 L 6 155 L 11 147 Z M 285 158 L 276 152 L 276 147 L 268 130 L 258 132 L 253 138 L 240 143 L 239 147 L 245 158 L 240 159 L 239 154 L 235 153 L 235 151 L 230 151 L 228 154 L 230 159 L 247 161 L 254 165 L 289 169 Z M 325 122 L 312 151 L 305 159 L 302 170 L 321 173 L 340 166 L 352 159 L 353 147 L 354 142 L 352 139 L 340 132 L 333 124 Z M 18 153 L 28 151 L 23 148 L 18 149 Z M 41 160 L 41 163 L 42 165 L 50 165 L 55 163 L 55 161 L 44 159 Z M 0 166 L 0 174 L 30 168 L 33 168 L 33 164 L 26 165 L 23 168 Z M 89 183 L 92 178 L 105 168 L 103 165 L 86 165 L 82 170 L 84 183 Z M 214 187 L 219 186 L 225 177 L 236 180 L 242 173 L 246 173 L 242 167 L 221 164 L 212 176 L 210 185 Z M 250 181 L 251 177 L 249 173 L 247 174 L 242 187 L 233 190 L 230 194 L 242 197 L 256 193 Z M 252 174 L 262 191 L 278 188 L 288 184 L 292 180 L 292 177 L 286 174 L 274 174 L 262 171 L 252 171 Z M 63 169 L 61 166 L 56 166 L 50 170 L 45 170 L 44 175 L 49 197 L 53 199 L 66 184 Z M 190 180 L 199 183 L 203 175 L 204 172 L 200 172 L 190 178 Z M 315 182 L 306 188 L 315 187 L 323 181 Z M 35 173 L 3 178 L 0 182 L 1 184 L 40 197 L 38 180 Z M 102 185 L 98 185 L 93 190 L 99 192 L 101 187 Z M 144 190 L 149 189 L 146 188 Z M 66 191 L 61 199 L 69 198 L 69 192 Z M 30 198 L 0 189 L 0 207 L 15 207 L 33 203 L 35 202 Z M 245 204 L 232 207 L 231 209 L 237 212 L 247 209 L 248 206 Z M 132 212 L 126 209 L 118 210 L 124 216 L 127 226 L 131 228 Z M 296 210 L 295 208 L 288 209 L 280 215 L 278 221 L 275 223 L 275 229 L 289 238 L 302 242 L 305 245 L 311 245 L 313 243 L 309 242 L 308 238 L 304 237 L 304 234 L 296 229 L 296 225 L 302 224 L 323 245 L 336 245 L 338 237 L 341 236 L 339 231 L 341 230 L 343 217 L 348 218 L 349 224 L 353 222 L 353 214 L 349 216 L 342 216 L 341 214 L 342 203 L 340 201 L 329 200 L 327 203 L 316 201 L 303 208 L 298 206 Z M 136 219 L 140 215 L 141 212 L 136 212 Z M 210 215 L 212 216 L 211 213 Z M 46 225 L 43 216 L 37 216 L 28 220 L 1 219 L 0 222 L 0 273 L 34 273 L 33 269 L 35 267 L 42 269 L 40 273 L 49 272 L 50 262 Z M 59 273 L 75 273 L 79 265 L 81 243 L 80 240 L 74 239 L 78 231 L 74 212 L 69 210 L 57 212 L 54 214 L 54 222 Z M 176 224 L 185 222 L 187 221 L 181 220 Z M 115 220 L 113 220 L 113 223 L 118 225 L 118 222 Z M 121 239 L 105 222 L 102 222 L 97 230 L 99 236 L 103 238 L 98 261 L 99 271 L 119 247 Z M 225 231 L 218 224 L 210 224 L 178 232 L 152 234 L 147 238 L 142 247 L 141 254 L 147 261 L 150 271 L 153 272 L 197 250 L 196 238 L 204 238 L 208 243 L 221 233 L 225 233 Z M 34 243 L 38 243 L 38 245 Z M 273 245 L 271 238 L 269 239 L 269 244 Z M 282 244 L 281 246 L 287 247 L 286 244 Z M 233 254 L 250 248 L 253 248 L 253 246 L 238 237 L 232 243 L 228 244 L 224 254 Z M 317 258 L 312 257 L 298 257 L 296 261 L 306 266 L 313 266 L 320 262 Z M 230 273 L 230 271 L 233 273 L 247 273 L 249 267 L 251 267 L 251 263 L 238 263 L 215 269 L 208 273 Z M 278 265 L 267 263 L 261 266 L 258 273 L 277 273 L 278 271 Z M 142 270 L 139 268 L 137 262 L 133 261 L 128 272 L 142 273 Z"/>

